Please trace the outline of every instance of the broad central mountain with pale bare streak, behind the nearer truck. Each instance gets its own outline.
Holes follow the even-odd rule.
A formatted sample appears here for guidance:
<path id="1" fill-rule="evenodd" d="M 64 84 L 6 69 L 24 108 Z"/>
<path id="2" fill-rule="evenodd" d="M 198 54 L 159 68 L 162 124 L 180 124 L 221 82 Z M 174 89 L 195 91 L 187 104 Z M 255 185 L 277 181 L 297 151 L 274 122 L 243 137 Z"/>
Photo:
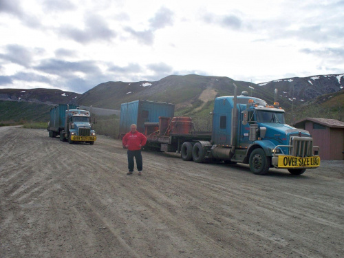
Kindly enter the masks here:
<path id="1" fill-rule="evenodd" d="M 176 109 L 181 109 L 190 107 L 195 103 L 202 105 L 202 103 L 213 101 L 217 96 L 233 95 L 233 83 L 238 87 L 237 94 L 241 94 L 243 91 L 251 93 L 252 89 L 257 88 L 259 90 L 252 92 L 254 96 L 267 99 L 270 102 L 274 100 L 273 90 L 259 87 L 254 83 L 237 81 L 228 77 L 192 74 L 186 76 L 171 75 L 155 82 L 101 83 L 78 98 L 78 103 L 94 107 L 120 109 L 121 103 L 141 99 L 173 103 L 176 105 Z"/>

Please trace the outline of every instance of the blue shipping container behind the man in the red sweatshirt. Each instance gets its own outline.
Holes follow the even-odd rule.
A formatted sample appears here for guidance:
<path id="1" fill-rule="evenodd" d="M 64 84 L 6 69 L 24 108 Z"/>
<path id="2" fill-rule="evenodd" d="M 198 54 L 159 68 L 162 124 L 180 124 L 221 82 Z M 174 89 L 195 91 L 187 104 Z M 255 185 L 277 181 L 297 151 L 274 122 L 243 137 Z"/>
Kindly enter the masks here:
<path id="1" fill-rule="evenodd" d="M 174 104 L 160 103 L 149 100 L 135 100 L 120 105 L 119 137 L 130 131 L 130 125 L 135 124 L 140 133 L 144 133 L 144 122 L 159 122 L 159 117 L 174 116 Z"/>

